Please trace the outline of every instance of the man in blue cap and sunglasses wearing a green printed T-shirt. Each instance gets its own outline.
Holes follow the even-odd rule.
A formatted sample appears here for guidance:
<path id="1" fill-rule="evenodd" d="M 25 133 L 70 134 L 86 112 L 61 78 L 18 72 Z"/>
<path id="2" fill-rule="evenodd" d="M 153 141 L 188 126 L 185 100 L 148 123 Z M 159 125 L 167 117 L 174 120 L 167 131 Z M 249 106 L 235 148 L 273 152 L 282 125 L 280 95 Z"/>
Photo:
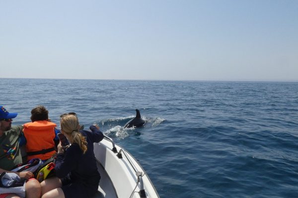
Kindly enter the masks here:
<path id="1" fill-rule="evenodd" d="M 19 147 L 19 137 L 22 135 L 23 126 L 11 127 L 12 118 L 17 113 L 9 113 L 3 106 L 0 106 L 0 174 L 9 173 L 17 164 L 22 163 L 22 156 Z M 30 179 L 34 175 L 30 171 L 14 172 L 21 179 Z M 41 187 L 37 180 L 32 179 L 25 185 L 26 198 L 39 198 Z M 1 194 L 0 198 L 15 197 L 13 194 Z"/>

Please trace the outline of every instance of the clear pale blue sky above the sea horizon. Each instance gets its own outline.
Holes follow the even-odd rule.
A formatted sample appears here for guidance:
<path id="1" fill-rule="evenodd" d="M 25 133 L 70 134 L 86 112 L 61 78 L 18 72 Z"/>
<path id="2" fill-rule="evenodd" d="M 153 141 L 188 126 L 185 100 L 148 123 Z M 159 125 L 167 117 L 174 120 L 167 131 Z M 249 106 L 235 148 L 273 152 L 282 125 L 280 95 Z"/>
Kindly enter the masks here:
<path id="1" fill-rule="evenodd" d="M 0 0 L 0 78 L 298 81 L 298 0 Z"/>

